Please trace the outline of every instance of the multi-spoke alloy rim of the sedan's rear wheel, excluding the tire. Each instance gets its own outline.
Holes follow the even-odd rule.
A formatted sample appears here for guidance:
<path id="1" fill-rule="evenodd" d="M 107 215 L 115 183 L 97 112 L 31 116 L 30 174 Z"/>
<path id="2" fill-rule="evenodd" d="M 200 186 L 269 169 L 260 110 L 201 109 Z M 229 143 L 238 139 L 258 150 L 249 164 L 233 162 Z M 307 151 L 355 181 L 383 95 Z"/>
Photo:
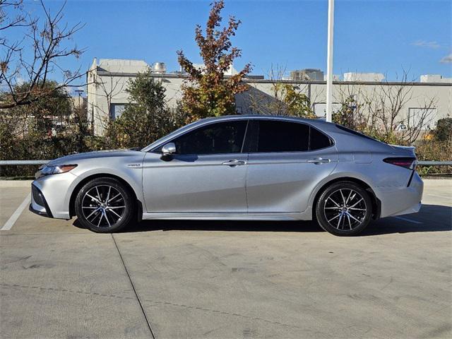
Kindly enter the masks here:
<path id="1" fill-rule="evenodd" d="M 338 189 L 327 198 L 325 218 L 337 230 L 353 230 L 362 224 L 367 213 L 366 201 L 354 189 Z"/>

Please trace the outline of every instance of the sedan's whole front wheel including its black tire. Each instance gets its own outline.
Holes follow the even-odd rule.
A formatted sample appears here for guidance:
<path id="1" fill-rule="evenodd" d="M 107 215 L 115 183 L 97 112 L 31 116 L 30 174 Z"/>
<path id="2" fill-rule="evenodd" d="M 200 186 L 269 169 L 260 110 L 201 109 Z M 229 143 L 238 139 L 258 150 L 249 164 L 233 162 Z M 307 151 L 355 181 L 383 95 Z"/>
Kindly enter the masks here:
<path id="1" fill-rule="evenodd" d="M 132 192 L 113 178 L 87 182 L 78 191 L 75 207 L 83 227 L 98 233 L 117 232 L 130 225 L 136 214 Z"/>

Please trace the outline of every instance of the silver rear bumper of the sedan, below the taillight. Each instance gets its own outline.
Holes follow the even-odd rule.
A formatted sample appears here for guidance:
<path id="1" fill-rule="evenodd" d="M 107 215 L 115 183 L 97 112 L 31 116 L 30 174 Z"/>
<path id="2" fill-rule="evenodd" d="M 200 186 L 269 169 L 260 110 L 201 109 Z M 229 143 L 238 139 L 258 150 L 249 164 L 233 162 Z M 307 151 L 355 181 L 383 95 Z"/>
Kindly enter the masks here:
<path id="1" fill-rule="evenodd" d="M 419 174 L 413 174 L 409 186 L 378 187 L 376 196 L 381 201 L 381 218 L 419 212 L 424 183 Z"/>

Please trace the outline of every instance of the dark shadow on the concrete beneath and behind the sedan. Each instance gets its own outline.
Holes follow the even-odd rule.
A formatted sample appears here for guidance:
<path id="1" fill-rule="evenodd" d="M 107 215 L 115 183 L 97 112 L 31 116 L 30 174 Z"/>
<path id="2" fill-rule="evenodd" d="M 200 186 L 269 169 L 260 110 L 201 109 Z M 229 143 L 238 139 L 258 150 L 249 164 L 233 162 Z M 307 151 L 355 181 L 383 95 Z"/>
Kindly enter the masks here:
<path id="1" fill-rule="evenodd" d="M 359 234 L 441 232 L 452 230 L 452 207 L 422 205 L 419 213 L 401 218 L 382 218 L 371 222 Z M 73 225 L 82 228 L 75 220 Z M 143 220 L 121 230 L 121 233 L 151 231 L 236 231 L 236 232 L 324 232 L 315 221 L 231 221 L 231 220 Z"/>

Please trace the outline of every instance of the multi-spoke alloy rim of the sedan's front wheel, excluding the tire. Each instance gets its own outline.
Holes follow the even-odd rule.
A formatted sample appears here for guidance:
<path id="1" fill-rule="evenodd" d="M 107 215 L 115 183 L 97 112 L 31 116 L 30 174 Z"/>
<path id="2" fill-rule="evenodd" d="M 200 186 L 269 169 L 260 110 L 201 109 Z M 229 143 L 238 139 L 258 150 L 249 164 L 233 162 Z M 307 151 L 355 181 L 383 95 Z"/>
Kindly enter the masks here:
<path id="1" fill-rule="evenodd" d="M 98 185 L 89 189 L 82 199 L 85 220 L 95 227 L 112 227 L 126 211 L 124 196 L 109 185 Z"/>

